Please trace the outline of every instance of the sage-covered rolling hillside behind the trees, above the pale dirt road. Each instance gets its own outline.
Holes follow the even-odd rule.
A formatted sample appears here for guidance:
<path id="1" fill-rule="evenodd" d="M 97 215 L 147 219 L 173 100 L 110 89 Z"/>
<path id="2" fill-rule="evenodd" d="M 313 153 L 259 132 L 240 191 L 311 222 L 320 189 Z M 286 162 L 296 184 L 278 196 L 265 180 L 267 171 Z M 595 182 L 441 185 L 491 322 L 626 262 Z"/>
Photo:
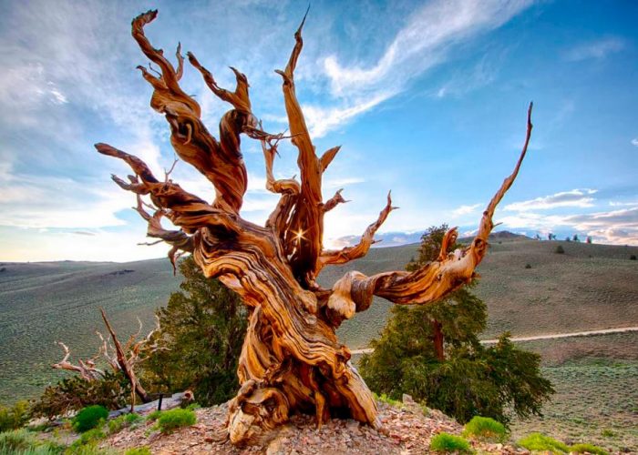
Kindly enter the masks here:
<path id="1" fill-rule="evenodd" d="M 478 295 L 489 307 L 485 338 L 509 330 L 517 336 L 638 325 L 638 254 L 635 247 L 539 242 L 499 234 L 478 268 Z M 565 254 L 556 254 L 561 245 Z M 330 286 L 345 271 L 365 274 L 402 269 L 417 245 L 374 248 L 351 264 L 326 268 L 319 278 Z M 530 268 L 526 268 L 527 265 Z M 149 327 L 155 308 L 179 288 L 167 259 L 139 262 L 0 264 L 0 402 L 33 397 L 64 373 L 50 369 L 61 359 L 56 340 L 72 356 L 97 349 L 98 308 L 105 308 L 124 337 Z M 363 348 L 383 329 L 388 308 L 381 298 L 345 321 L 340 338 Z"/>

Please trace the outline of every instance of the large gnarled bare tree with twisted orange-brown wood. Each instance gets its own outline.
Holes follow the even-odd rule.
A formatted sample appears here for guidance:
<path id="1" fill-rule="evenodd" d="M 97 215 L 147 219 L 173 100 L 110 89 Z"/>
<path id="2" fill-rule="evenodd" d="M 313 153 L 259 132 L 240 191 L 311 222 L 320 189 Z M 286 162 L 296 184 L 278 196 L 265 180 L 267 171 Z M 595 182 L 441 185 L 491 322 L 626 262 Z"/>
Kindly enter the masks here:
<path id="1" fill-rule="evenodd" d="M 148 223 L 148 235 L 169 243 L 169 257 L 191 253 L 207 277 L 221 279 L 236 291 L 250 309 L 250 324 L 243 343 L 238 369 L 242 384 L 232 400 L 228 435 L 233 443 L 250 442 L 263 430 L 271 430 L 295 411 L 312 412 L 318 425 L 330 416 L 351 417 L 373 427 L 381 425 L 376 403 L 363 379 L 349 362 L 350 352 L 334 331 L 344 319 L 364 311 L 373 296 L 397 304 L 427 304 L 467 283 L 488 248 L 494 210 L 519 172 L 530 139 L 527 137 L 514 172 L 505 179 L 489 202 L 468 248 L 448 253 L 457 236 L 451 229 L 436 261 L 414 272 L 390 271 L 366 277 L 348 272 L 332 289 L 321 288 L 316 277 L 325 266 L 362 258 L 374 242 L 378 227 L 386 220 L 386 207 L 354 247 L 341 250 L 323 248 L 324 214 L 345 202 L 340 192 L 324 201 L 322 176 L 339 147 L 315 155 L 314 145 L 297 101 L 294 69 L 302 51 L 302 25 L 294 35 L 293 52 L 283 70 L 283 101 L 293 146 L 299 155 L 299 181 L 276 180 L 273 159 L 283 135 L 262 131 L 252 113 L 248 80 L 231 68 L 237 80 L 234 91 L 221 88 L 211 73 L 188 53 L 190 65 L 201 72 L 213 94 L 231 104 L 221 117 L 216 138 L 201 122 L 200 105 L 180 87 L 184 58 L 177 50 L 177 68 L 160 49 L 150 45 L 144 26 L 155 19 L 149 11 L 133 20 L 132 35 L 140 49 L 160 67 L 151 74 L 139 66 L 153 87 L 150 106 L 166 117 L 170 143 L 178 156 L 195 167 L 215 188 L 212 202 L 184 191 L 168 175 L 162 180 L 134 157 L 107 144 L 97 144 L 99 153 L 124 160 L 133 170 L 129 181 L 113 180 L 138 197 L 137 210 Z M 531 106 L 530 106 L 531 109 Z M 266 187 L 281 195 L 265 226 L 242 219 L 247 175 L 240 151 L 241 135 L 261 141 L 266 171 Z M 142 201 L 148 195 L 151 204 Z M 145 207 L 154 210 L 151 215 Z M 161 217 L 180 230 L 167 230 Z"/>

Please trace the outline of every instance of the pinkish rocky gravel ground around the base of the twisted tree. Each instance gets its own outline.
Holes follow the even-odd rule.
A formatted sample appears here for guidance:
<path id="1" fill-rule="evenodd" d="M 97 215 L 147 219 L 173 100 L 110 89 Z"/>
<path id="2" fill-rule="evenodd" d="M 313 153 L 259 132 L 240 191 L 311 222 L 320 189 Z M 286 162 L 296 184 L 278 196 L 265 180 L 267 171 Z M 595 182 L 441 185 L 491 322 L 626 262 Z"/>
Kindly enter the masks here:
<path id="1" fill-rule="evenodd" d="M 445 431 L 460 434 L 462 427 L 437 410 L 424 410 L 408 397 L 403 406 L 379 402 L 382 431 L 360 425 L 355 420 L 333 419 L 317 430 L 314 417 L 293 416 L 259 445 L 236 448 L 223 438 L 226 405 L 197 410 L 195 425 L 163 435 L 148 422 L 135 429 L 123 430 L 105 440 L 104 448 L 126 450 L 148 447 L 153 454 L 228 453 L 228 454 L 418 454 L 428 453 L 430 439 Z M 472 441 L 479 453 L 529 453 L 501 444 Z"/>

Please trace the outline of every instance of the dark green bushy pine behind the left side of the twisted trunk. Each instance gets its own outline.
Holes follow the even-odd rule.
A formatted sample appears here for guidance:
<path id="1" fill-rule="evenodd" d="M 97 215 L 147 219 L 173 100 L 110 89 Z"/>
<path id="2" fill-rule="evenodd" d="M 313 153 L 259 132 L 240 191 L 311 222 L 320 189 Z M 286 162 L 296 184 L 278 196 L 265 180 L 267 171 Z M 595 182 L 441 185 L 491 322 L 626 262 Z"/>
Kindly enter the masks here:
<path id="1" fill-rule="evenodd" d="M 242 300 L 221 282 L 205 278 L 192 257 L 180 262 L 181 291 L 160 308 L 160 346 L 143 364 L 143 381 L 154 391 L 190 389 L 211 406 L 231 399 L 239 384 L 237 361 L 248 313 Z"/>

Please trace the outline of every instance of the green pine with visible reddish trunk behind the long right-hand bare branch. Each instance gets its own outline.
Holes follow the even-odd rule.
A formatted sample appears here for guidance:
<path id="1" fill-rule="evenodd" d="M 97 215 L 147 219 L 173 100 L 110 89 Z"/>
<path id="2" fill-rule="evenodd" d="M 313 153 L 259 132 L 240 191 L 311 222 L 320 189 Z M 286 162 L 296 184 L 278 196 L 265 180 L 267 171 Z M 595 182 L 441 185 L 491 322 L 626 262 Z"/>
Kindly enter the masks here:
<path id="1" fill-rule="evenodd" d="M 435 260 L 447 230 L 430 227 L 419 258 L 406 268 Z M 540 356 L 516 348 L 509 333 L 494 346 L 480 344 L 488 310 L 472 286 L 431 305 L 394 306 L 381 337 L 372 342 L 374 352 L 361 359 L 366 383 L 392 399 L 408 393 L 463 423 L 476 415 L 508 423 L 509 409 L 520 417 L 540 415 L 553 393 L 540 375 Z"/>

